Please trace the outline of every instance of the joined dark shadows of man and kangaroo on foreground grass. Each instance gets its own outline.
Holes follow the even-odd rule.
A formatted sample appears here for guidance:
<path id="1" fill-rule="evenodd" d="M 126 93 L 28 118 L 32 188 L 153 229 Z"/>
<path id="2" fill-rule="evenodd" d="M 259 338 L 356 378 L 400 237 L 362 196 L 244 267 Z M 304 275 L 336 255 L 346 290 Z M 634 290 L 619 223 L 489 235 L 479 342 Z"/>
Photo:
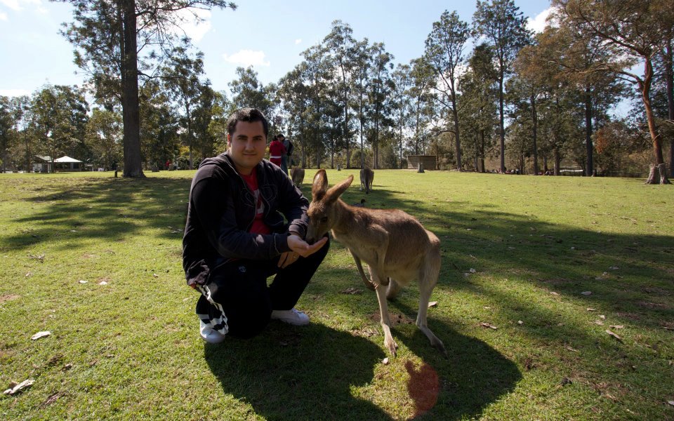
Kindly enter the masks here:
<path id="1" fill-rule="evenodd" d="M 436 329 L 438 324 L 442 323 L 434 323 Z M 411 399 L 416 415 L 459 420 L 479 415 L 520 380 L 515 364 L 489 345 L 446 326 L 438 330 L 449 360 L 437 354 L 423 334 L 404 339 L 426 361 L 418 367 L 412 361 L 394 361 L 376 370 L 386 355 L 373 340 L 315 323 L 293 328 L 274 322 L 251 340 L 227 338 L 220 345 L 204 345 L 204 358 L 223 392 L 270 420 L 400 418 L 354 396 L 354 388 L 369 385 L 374 391 L 370 387 L 363 394 L 374 396 L 375 401 L 393 400 L 399 405 Z M 399 375 L 396 363 L 409 373 L 409 397 L 390 394 L 388 379 Z"/>

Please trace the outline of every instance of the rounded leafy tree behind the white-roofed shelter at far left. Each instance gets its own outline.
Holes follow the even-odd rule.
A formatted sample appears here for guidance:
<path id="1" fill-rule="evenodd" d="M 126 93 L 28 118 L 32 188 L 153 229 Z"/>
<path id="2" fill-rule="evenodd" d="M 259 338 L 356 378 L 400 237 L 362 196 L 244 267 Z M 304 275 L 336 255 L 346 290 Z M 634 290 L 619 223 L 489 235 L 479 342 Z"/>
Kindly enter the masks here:
<path id="1" fill-rule="evenodd" d="M 88 103 L 81 89 L 70 86 L 46 86 L 33 95 L 29 131 L 37 139 L 39 152 L 51 157 L 55 170 L 57 155 L 84 140 Z"/>

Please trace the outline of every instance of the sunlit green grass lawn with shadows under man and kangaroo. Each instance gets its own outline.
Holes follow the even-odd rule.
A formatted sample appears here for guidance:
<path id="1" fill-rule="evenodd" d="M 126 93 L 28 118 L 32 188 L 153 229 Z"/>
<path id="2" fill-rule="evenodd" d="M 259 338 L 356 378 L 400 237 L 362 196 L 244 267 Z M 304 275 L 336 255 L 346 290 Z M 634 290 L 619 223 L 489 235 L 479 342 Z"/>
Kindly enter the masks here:
<path id="1" fill-rule="evenodd" d="M 428 323 L 449 359 L 414 326 L 411 286 L 389 306 L 399 351 L 383 363 L 376 296 L 334 241 L 298 303 L 310 326 L 204 345 L 180 255 L 192 172 L 6 174 L 0 387 L 34 385 L 2 395 L 0 417 L 674 418 L 672 187 L 376 171 L 365 196 L 357 171 L 329 182 L 350 173 L 345 201 L 402 208 L 442 240 Z"/>

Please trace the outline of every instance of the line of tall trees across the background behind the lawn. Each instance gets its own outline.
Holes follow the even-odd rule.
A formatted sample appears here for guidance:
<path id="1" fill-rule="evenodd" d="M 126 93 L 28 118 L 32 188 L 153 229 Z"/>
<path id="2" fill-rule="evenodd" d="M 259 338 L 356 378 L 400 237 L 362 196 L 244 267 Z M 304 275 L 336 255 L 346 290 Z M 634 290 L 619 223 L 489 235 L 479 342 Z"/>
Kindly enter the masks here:
<path id="1" fill-rule="evenodd" d="M 303 166 L 402 168 L 408 154 L 430 154 L 439 168 L 462 171 L 559 174 L 564 162 L 585 175 L 627 175 L 645 173 L 650 163 L 649 181 L 666 182 L 668 151 L 674 171 L 674 0 L 554 0 L 538 34 L 529 32 L 512 0 L 477 1 L 471 22 L 442 13 L 420 57 L 406 64 L 335 21 L 277 83 L 264 85 L 253 69 L 239 68 L 230 95 L 213 91 L 203 55 L 191 53 L 188 39 L 166 35 L 155 40 L 161 48 L 137 58 L 140 152 L 126 147 L 134 107 L 124 93 L 133 78 L 128 68 L 121 72 L 114 43 L 105 54 L 87 44 L 94 35 L 119 32 L 92 24 L 102 13 L 91 6 L 98 2 L 74 3 L 79 14 L 65 35 L 91 74 L 93 109 L 77 87 L 2 98 L 3 168 L 23 168 L 38 152 L 105 168 L 133 165 L 129 154 L 140 154 L 136 161 L 145 168 L 176 160 L 193 168 L 224 149 L 233 109 L 257 107 L 272 132 L 293 140 Z M 139 25 L 138 39 L 147 42 L 143 30 L 170 21 L 174 11 L 159 10 L 154 16 L 165 13 L 164 19 Z M 152 16 L 137 6 L 136 12 Z M 635 65 L 642 69 L 633 72 Z M 612 111 L 621 102 L 630 102 L 631 112 L 616 119 Z"/>

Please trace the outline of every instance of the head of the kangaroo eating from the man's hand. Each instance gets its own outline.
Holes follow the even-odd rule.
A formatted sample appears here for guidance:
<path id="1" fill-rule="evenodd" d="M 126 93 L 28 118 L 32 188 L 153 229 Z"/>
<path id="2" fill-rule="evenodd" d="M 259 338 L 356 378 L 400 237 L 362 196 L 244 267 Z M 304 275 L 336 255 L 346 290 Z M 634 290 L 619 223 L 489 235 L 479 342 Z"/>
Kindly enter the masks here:
<path id="1" fill-rule="evenodd" d="M 353 175 L 349 175 L 346 180 L 328 189 L 328 177 L 325 170 L 319 170 L 316 173 L 311 187 L 312 201 L 307 212 L 309 215 L 308 243 L 315 243 L 338 222 L 343 208 L 336 205 L 337 199 L 348 189 L 352 181 Z"/>

